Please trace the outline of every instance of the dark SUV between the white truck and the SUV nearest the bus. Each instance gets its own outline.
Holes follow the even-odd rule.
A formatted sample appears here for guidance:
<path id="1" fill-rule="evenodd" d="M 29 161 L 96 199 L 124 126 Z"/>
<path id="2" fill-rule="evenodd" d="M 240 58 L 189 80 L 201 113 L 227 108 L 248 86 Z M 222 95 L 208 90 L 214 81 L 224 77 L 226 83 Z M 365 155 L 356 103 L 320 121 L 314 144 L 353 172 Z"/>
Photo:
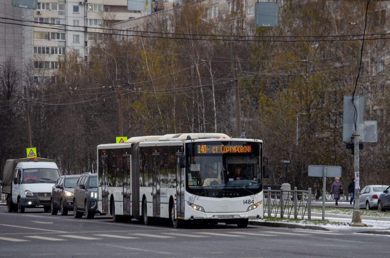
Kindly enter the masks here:
<path id="1" fill-rule="evenodd" d="M 65 175 L 58 178 L 51 189 L 50 212 L 57 215 L 60 210 L 61 216 L 66 216 L 68 210 L 73 209 L 73 191 L 76 182 L 81 175 Z"/>

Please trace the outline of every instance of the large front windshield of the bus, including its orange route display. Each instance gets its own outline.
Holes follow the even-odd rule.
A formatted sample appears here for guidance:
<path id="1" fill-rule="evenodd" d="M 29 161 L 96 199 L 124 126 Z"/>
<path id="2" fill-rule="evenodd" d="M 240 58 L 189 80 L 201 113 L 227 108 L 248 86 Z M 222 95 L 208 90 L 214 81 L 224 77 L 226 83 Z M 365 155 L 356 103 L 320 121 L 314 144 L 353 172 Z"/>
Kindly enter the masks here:
<path id="1" fill-rule="evenodd" d="M 186 190 L 207 197 L 238 197 L 262 191 L 257 142 L 207 141 L 187 145 Z"/>

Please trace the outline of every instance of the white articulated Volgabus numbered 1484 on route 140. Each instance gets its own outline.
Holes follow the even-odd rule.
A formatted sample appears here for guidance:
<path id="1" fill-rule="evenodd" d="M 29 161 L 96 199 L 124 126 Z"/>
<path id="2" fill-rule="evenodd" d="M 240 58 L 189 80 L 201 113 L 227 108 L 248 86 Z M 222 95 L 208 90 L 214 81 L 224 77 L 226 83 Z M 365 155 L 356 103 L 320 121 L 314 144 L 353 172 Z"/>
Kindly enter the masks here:
<path id="1" fill-rule="evenodd" d="M 160 218 L 246 227 L 263 218 L 263 142 L 226 134 L 132 137 L 97 146 L 98 209 L 113 221 Z"/>

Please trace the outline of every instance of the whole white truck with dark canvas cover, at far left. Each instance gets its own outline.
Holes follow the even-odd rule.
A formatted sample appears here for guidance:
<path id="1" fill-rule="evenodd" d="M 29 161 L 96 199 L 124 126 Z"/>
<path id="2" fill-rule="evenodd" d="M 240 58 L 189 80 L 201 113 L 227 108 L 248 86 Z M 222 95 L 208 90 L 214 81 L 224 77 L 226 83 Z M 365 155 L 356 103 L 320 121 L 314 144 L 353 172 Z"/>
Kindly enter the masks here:
<path id="1" fill-rule="evenodd" d="M 8 159 L 4 165 L 2 192 L 7 193 L 8 212 L 42 207 L 50 211 L 51 187 L 60 173 L 52 159 Z"/>

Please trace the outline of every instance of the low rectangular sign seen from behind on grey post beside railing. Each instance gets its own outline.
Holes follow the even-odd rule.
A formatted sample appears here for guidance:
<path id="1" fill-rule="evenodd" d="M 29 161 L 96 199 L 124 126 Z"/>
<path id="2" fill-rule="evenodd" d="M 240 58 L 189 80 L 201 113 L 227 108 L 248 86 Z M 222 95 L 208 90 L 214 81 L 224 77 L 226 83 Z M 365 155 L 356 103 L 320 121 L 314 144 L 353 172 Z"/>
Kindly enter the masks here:
<path id="1" fill-rule="evenodd" d="M 310 165 L 308 168 L 309 177 L 323 177 L 322 184 L 322 220 L 325 220 L 325 190 L 326 190 L 326 177 L 341 177 L 340 166 L 316 166 Z M 309 196 L 311 198 L 311 196 Z"/>

